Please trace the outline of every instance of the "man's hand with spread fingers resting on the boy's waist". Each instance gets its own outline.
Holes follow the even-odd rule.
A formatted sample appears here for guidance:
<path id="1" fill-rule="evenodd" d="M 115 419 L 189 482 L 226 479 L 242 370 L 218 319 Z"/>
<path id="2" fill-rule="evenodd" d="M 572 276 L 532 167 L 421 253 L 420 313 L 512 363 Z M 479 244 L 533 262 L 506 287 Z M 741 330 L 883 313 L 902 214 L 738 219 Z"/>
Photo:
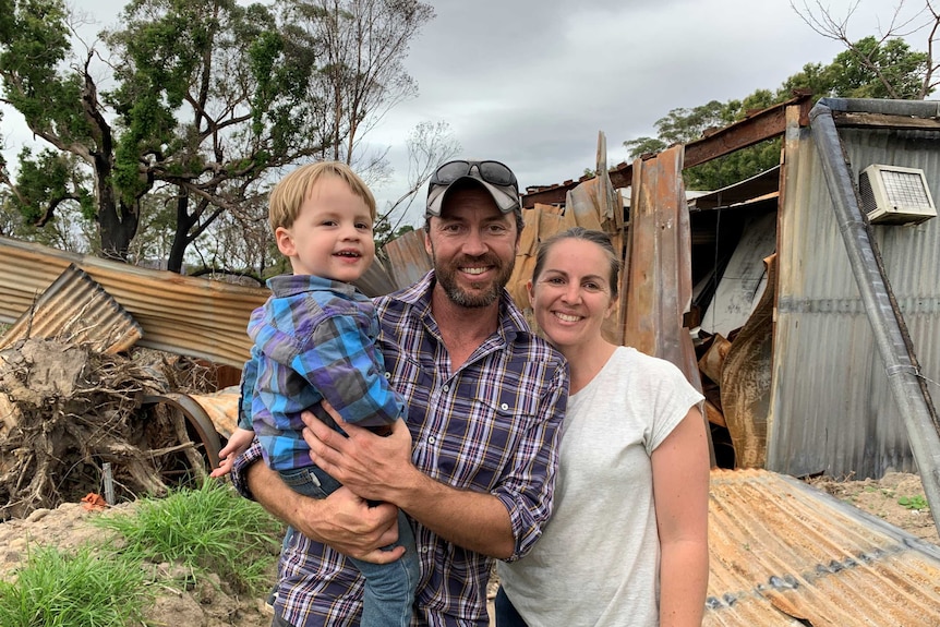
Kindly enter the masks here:
<path id="1" fill-rule="evenodd" d="M 328 402 L 322 405 L 349 437 L 304 411 L 303 438 L 310 445 L 311 460 L 362 498 L 397 503 L 400 491 L 420 474 L 411 462 L 411 433 L 405 421 L 396 421 L 391 434 L 382 437 L 344 422 Z"/>

